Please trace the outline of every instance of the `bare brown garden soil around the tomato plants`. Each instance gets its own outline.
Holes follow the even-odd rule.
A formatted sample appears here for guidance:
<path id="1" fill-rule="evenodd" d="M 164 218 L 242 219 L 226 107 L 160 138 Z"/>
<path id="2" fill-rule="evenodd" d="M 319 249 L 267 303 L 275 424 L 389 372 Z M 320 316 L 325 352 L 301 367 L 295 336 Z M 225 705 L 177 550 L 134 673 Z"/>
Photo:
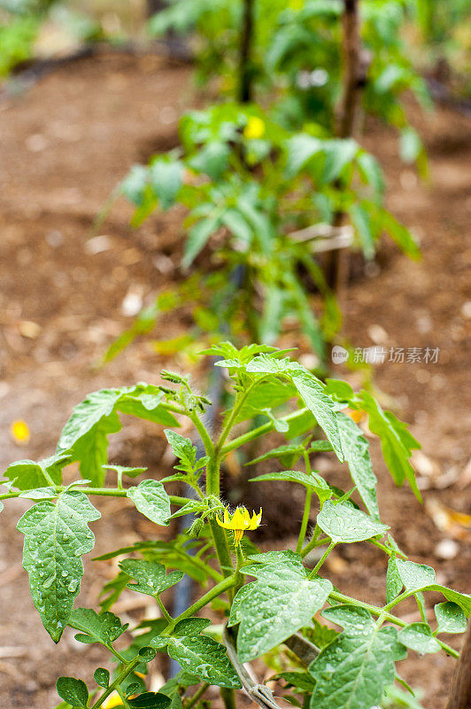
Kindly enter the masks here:
<path id="1" fill-rule="evenodd" d="M 150 346 L 138 343 L 106 369 L 92 366 L 132 322 L 121 310 L 129 290 L 131 300 L 145 301 L 178 279 L 181 214 L 154 216 L 133 233 L 127 225 L 130 209 L 119 203 L 100 230 L 106 239 L 89 244 L 88 239 L 98 210 L 129 166 L 175 144 L 178 115 L 192 100 L 188 78 L 186 67 L 164 65 L 157 58 L 105 56 L 67 66 L 0 105 L 2 469 L 20 457 L 50 455 L 68 413 L 85 393 L 152 381 L 164 362 Z M 364 143 L 385 166 L 390 208 L 421 238 L 423 260 L 413 263 L 385 246 L 376 272 L 370 268 L 369 276 L 351 285 L 345 333 L 354 347 L 440 347 L 436 364 L 386 362 L 375 376 L 376 386 L 394 397 L 399 415 L 421 440 L 427 459 L 419 461 L 419 468 L 423 485 L 429 487 L 425 506 L 407 488 L 392 485 L 374 441 L 373 455 L 382 517 L 398 543 L 416 561 L 434 565 L 441 582 L 466 591 L 471 580 L 469 538 L 459 528 L 457 556 L 437 558 L 438 542 L 450 533 L 437 528 L 430 510 L 438 500 L 469 512 L 470 476 L 464 474 L 469 312 L 463 306 L 469 297 L 471 123 L 442 109 L 417 122 L 429 150 L 428 184 L 418 183 L 413 171 L 401 165 L 396 137 L 389 130 L 372 122 Z M 98 253 L 92 253 L 94 248 Z M 184 321 L 168 320 L 163 337 L 185 326 Z M 173 364 L 190 366 L 181 354 Z M 357 377 L 348 376 L 352 381 Z M 16 418 L 31 429 L 24 448 L 9 434 Z M 147 464 L 158 476 L 168 465 L 165 456 L 161 460 L 164 451 L 161 433 L 156 437 L 151 426 L 140 423 L 128 423 L 112 440 L 113 460 Z M 327 456 L 320 457 L 318 467 L 334 483 L 346 484 L 344 471 Z M 270 517 L 293 518 L 292 498 L 283 508 L 285 488 L 274 487 L 272 493 Z M 0 687 L 5 709 L 48 709 L 57 703 L 54 683 L 59 674 L 90 679 L 93 669 L 108 661 L 99 649 L 76 643 L 68 632 L 56 648 L 42 629 L 21 569 L 21 535 L 14 528 L 27 506 L 25 501 L 5 505 L 0 527 Z M 106 518 L 94 531 L 97 553 L 155 534 L 150 523 L 120 501 L 106 503 Z M 87 560 L 81 604 L 95 604 L 113 568 Z M 384 564 L 375 549 L 345 546 L 330 562 L 329 573 L 346 593 L 382 603 Z M 436 599 L 429 598 L 428 607 L 433 603 Z M 128 606 L 122 610 L 131 616 L 135 612 Z M 400 611 L 413 614 L 413 605 Z M 458 647 L 459 638 L 450 643 Z M 165 668 L 154 665 L 153 681 L 158 682 Z M 414 687 L 423 688 L 424 706 L 440 709 L 452 669 L 453 660 L 439 653 L 411 657 L 400 671 Z"/>

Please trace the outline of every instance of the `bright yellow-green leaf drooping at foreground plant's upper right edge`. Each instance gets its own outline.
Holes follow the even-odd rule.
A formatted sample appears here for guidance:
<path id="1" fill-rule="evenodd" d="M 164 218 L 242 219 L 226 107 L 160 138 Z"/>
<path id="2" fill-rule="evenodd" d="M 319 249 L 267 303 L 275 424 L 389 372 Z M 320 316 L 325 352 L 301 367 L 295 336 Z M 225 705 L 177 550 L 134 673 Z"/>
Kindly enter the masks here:
<path id="1" fill-rule="evenodd" d="M 415 481 L 415 472 L 409 458 L 413 449 L 421 444 L 413 438 L 405 424 L 390 411 L 383 411 L 374 397 L 366 391 L 361 392 L 361 405 L 369 417 L 369 428 L 381 440 L 382 456 L 390 470 L 396 485 L 402 485 L 406 479 L 413 494 L 421 501 L 421 493 Z"/>

